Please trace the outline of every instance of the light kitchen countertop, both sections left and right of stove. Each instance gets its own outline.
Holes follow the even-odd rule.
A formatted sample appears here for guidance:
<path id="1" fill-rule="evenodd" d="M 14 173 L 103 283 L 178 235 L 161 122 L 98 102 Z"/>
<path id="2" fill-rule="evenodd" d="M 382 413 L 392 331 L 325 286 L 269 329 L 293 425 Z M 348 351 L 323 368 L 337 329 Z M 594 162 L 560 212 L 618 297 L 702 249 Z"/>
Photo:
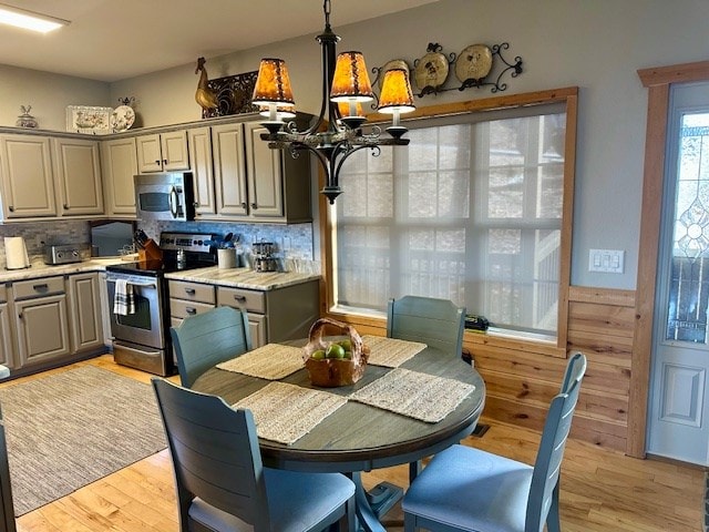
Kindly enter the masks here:
<path id="1" fill-rule="evenodd" d="M 48 266 L 43 262 L 32 263 L 25 269 L 0 270 L 0 283 L 51 277 L 54 275 L 71 275 L 85 272 L 103 272 L 106 266 L 122 263 L 120 257 L 91 258 L 81 263 Z M 167 279 L 206 283 L 212 285 L 247 288 L 254 290 L 273 290 L 290 285 L 319 279 L 319 274 L 299 274 L 295 272 L 254 272 L 249 268 L 218 268 L 216 266 L 186 272 L 165 274 Z"/>

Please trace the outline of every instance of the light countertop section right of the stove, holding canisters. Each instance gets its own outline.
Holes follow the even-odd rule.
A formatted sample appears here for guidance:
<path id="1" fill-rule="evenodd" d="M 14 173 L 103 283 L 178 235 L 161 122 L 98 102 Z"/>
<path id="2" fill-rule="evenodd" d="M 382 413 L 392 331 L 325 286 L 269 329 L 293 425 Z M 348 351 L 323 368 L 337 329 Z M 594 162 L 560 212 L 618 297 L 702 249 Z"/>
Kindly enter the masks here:
<path id="1" fill-rule="evenodd" d="M 273 290 L 290 285 L 319 279 L 319 274 L 298 274 L 296 272 L 254 272 L 249 268 L 210 268 L 188 269 L 165 274 L 165 278 L 207 283 L 212 285 L 249 288 L 253 290 Z"/>

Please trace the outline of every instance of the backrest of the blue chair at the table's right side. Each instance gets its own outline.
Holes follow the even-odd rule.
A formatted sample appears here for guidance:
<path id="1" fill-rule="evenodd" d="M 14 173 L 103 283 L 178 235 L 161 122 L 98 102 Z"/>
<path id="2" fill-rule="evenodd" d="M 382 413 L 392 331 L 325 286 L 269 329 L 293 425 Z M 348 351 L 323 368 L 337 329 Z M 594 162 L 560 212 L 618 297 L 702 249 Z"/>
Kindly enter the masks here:
<path id="1" fill-rule="evenodd" d="M 552 400 L 546 415 L 530 487 L 525 532 L 541 532 L 544 529 L 585 372 L 586 357 L 580 352 L 574 354 L 566 366 L 561 392 Z"/>

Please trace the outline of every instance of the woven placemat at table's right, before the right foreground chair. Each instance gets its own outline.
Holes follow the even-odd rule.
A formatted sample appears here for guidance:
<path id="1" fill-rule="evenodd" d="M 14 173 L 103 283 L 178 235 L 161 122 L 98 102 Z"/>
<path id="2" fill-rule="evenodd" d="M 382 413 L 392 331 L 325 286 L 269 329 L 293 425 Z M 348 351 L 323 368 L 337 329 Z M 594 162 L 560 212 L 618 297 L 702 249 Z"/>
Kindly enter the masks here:
<path id="1" fill-rule="evenodd" d="M 474 389 L 473 385 L 460 380 L 397 368 L 357 390 L 349 399 L 438 423 Z"/>

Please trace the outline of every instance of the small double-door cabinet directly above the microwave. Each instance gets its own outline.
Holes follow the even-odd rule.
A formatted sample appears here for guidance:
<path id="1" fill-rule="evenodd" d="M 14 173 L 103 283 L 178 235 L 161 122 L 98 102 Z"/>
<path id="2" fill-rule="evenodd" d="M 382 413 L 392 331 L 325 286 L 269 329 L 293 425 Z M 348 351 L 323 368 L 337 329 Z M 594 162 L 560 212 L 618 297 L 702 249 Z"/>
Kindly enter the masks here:
<path id="1" fill-rule="evenodd" d="M 135 139 L 140 173 L 189 170 L 187 131 L 171 131 Z"/>

